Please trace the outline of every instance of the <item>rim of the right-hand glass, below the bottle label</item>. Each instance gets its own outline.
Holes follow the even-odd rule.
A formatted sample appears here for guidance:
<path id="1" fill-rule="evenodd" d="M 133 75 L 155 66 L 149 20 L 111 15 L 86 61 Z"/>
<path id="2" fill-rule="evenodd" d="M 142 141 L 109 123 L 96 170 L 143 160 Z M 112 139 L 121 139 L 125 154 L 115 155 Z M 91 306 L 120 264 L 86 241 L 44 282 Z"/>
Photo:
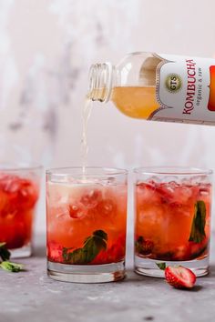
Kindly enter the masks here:
<path id="1" fill-rule="evenodd" d="M 210 176 L 211 169 L 192 166 L 142 166 L 133 169 L 138 175 L 161 176 Z"/>

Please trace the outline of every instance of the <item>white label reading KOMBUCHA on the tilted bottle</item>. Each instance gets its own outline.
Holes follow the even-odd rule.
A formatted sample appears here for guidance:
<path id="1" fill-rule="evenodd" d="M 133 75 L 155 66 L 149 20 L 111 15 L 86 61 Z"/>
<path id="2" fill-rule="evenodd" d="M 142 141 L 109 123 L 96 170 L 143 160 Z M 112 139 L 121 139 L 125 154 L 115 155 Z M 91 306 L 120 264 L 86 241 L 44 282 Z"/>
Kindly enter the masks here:
<path id="1" fill-rule="evenodd" d="M 156 55 L 159 109 L 150 119 L 214 124 L 215 59 Z"/>

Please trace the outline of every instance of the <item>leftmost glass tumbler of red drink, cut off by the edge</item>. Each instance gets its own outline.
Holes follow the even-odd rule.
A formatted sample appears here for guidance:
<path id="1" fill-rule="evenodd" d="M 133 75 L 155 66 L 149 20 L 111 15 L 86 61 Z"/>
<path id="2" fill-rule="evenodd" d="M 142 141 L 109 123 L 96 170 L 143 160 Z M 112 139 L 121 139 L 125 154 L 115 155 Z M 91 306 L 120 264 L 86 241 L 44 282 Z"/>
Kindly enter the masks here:
<path id="1" fill-rule="evenodd" d="M 0 242 L 11 257 L 32 254 L 42 166 L 0 164 Z"/>

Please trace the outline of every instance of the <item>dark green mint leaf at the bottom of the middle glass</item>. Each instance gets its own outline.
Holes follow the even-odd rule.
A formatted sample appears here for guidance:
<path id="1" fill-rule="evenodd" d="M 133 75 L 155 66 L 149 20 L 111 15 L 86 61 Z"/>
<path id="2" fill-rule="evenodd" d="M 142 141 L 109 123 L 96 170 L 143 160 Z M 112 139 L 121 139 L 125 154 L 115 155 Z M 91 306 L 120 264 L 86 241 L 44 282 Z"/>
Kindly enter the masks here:
<path id="1" fill-rule="evenodd" d="M 88 236 L 82 248 L 70 251 L 72 248 L 63 248 L 63 257 L 67 263 L 86 265 L 97 257 L 101 250 L 107 248 L 107 233 L 103 230 L 96 230 L 92 236 Z"/>

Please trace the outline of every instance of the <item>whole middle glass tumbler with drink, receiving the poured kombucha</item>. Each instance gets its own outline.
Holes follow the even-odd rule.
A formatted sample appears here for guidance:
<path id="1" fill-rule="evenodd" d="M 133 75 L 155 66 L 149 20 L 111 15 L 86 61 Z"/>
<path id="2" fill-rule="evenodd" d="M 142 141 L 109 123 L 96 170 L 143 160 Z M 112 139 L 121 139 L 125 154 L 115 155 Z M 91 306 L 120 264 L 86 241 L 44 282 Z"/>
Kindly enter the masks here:
<path id="1" fill-rule="evenodd" d="M 102 283 L 125 277 L 127 171 L 46 171 L 47 274 Z"/>

